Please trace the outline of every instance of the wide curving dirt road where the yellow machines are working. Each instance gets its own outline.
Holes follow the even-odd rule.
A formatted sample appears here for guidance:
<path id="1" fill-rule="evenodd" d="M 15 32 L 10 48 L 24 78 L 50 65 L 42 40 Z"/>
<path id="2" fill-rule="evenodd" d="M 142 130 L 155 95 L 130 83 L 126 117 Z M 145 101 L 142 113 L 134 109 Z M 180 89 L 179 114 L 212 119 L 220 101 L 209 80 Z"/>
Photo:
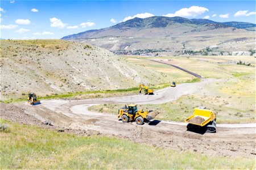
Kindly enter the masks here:
<path id="1" fill-rule="evenodd" d="M 37 119 L 51 120 L 54 126 L 65 130 L 78 130 L 85 134 L 103 134 L 146 143 L 152 146 L 190 150 L 200 154 L 255 157 L 255 124 L 217 125 L 217 133 L 198 134 L 187 131 L 181 122 L 152 120 L 142 126 L 135 122 L 123 124 L 112 114 L 88 111 L 95 104 L 160 104 L 195 94 L 215 79 L 199 83 L 184 83 L 175 88 L 164 88 L 155 95 L 135 95 L 87 100 L 43 100 L 42 104 L 28 106 L 25 112 Z"/>

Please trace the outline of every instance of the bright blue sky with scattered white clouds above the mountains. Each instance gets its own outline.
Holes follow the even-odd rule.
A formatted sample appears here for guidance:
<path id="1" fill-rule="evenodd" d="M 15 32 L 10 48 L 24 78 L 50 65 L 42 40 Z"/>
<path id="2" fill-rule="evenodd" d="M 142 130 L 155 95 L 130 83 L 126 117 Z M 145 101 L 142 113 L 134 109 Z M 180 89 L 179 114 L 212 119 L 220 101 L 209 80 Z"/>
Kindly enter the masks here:
<path id="1" fill-rule="evenodd" d="M 1 39 L 61 39 L 134 17 L 255 23 L 255 1 L 0 1 Z"/>

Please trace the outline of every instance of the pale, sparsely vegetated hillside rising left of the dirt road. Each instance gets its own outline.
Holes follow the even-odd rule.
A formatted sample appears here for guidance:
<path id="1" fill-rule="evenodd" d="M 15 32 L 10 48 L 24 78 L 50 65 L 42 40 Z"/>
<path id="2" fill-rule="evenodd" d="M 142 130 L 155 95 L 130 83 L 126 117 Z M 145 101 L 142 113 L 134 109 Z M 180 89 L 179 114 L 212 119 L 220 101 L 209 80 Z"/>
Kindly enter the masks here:
<path id="1" fill-rule="evenodd" d="M 167 82 L 166 74 L 141 70 L 108 50 L 63 40 L 1 40 L 0 67 L 1 100 Z"/>

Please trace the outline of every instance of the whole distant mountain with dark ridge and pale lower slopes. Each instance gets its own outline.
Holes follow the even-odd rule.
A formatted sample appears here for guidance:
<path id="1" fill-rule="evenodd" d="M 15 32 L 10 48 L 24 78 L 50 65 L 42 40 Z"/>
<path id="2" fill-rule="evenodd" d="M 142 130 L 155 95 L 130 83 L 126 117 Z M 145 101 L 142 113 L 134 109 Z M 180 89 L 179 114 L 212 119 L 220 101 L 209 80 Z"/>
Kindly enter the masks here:
<path id="1" fill-rule="evenodd" d="M 219 53 L 247 55 L 249 50 L 255 49 L 255 32 L 246 29 L 253 30 L 254 27 L 255 24 L 251 23 L 152 16 L 130 19 L 112 27 L 80 32 L 62 39 L 82 41 L 112 51 L 150 49 L 181 54 L 184 50 L 199 51 L 213 47 Z"/>

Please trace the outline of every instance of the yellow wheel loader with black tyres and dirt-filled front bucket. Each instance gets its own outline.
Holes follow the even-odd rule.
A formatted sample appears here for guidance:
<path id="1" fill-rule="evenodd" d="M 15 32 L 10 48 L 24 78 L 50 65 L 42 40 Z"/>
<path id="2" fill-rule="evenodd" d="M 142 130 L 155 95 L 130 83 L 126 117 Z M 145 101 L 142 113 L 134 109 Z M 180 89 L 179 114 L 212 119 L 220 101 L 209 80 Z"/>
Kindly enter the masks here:
<path id="1" fill-rule="evenodd" d="M 147 113 L 147 111 L 138 111 L 136 104 L 130 104 L 128 107 L 125 105 L 125 107 L 120 108 L 117 117 L 121 118 L 124 123 L 135 120 L 136 124 L 142 125 L 143 122 L 147 122 L 152 118 Z"/>

